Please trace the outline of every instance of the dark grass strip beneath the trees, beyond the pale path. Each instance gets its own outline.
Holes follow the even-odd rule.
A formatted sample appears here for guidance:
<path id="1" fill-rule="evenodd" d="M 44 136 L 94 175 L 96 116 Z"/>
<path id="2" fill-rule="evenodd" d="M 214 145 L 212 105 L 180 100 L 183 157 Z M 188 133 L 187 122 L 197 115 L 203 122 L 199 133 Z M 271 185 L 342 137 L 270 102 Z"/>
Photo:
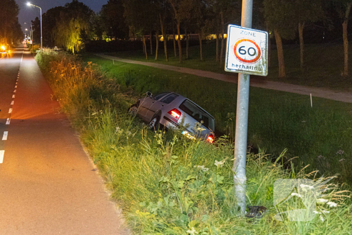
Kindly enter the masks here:
<path id="1" fill-rule="evenodd" d="M 122 51 L 118 53 L 109 53 L 110 55 L 134 59 L 139 61 L 157 62 L 173 66 L 189 67 L 194 69 L 207 70 L 212 72 L 227 73 L 224 67 L 216 62 L 215 43 L 205 43 L 203 48 L 204 60 L 200 60 L 199 46 L 190 47 L 190 59 L 185 59 L 182 64 L 179 59 L 174 57 L 173 49 L 168 50 L 169 61 L 165 61 L 163 50 L 159 50 L 158 60 L 155 56 L 149 56 L 148 60 L 143 56 L 142 51 Z M 149 50 L 148 50 L 149 52 Z M 343 70 L 343 45 L 342 44 L 306 44 L 305 45 L 305 63 L 306 70 L 304 73 L 300 70 L 299 45 L 290 45 L 284 49 L 286 79 L 278 79 L 278 54 L 276 49 L 271 53 L 271 67 L 267 77 L 259 77 L 263 80 L 278 81 L 303 86 L 324 87 L 336 90 L 352 90 L 352 75 L 342 77 Z M 352 53 L 352 48 L 350 48 Z M 183 53 L 186 55 L 185 53 Z M 352 68 L 352 61 L 349 61 Z M 233 74 L 233 73 L 232 73 Z M 233 74 L 236 75 L 236 74 Z"/>

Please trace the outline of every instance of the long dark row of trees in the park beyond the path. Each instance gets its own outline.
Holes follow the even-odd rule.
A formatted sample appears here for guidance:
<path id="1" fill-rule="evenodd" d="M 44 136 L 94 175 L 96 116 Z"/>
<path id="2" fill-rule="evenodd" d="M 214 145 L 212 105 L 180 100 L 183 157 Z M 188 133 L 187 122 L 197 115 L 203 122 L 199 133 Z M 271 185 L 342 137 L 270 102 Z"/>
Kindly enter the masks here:
<path id="1" fill-rule="evenodd" d="M 10 0 L 6 0 L 10 1 Z M 203 59 L 202 40 L 208 34 L 216 35 L 216 61 L 223 64 L 226 27 L 229 23 L 240 24 L 240 0 L 109 0 L 99 13 L 77 0 L 56 7 L 43 14 L 43 28 L 50 32 L 44 36 L 48 46 L 56 45 L 78 52 L 87 40 L 128 40 L 138 37 L 143 44 L 143 53 L 158 57 L 159 40 L 173 35 L 174 55 L 189 58 L 189 34 L 199 35 L 200 59 Z M 322 27 L 342 28 L 344 69 L 348 75 L 348 33 L 352 0 L 253 0 L 253 28 L 266 30 L 274 36 L 278 52 L 279 77 L 285 77 L 283 40 L 298 37 L 300 44 L 300 67 L 305 69 L 304 29 L 319 22 Z M 34 37 L 40 32 L 39 19 L 33 22 Z M 43 29 L 44 30 L 44 29 Z M 150 52 L 145 35 L 154 38 Z M 183 55 L 181 35 L 185 35 L 186 55 Z M 154 40 L 153 39 L 153 40 Z M 165 59 L 168 61 L 166 40 L 163 40 Z"/>

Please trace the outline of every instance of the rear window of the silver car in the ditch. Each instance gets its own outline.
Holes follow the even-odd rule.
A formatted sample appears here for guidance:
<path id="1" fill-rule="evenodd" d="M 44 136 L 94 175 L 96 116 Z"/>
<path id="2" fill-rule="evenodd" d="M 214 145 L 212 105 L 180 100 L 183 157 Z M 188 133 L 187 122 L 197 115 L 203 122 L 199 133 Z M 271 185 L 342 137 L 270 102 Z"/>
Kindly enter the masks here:
<path id="1" fill-rule="evenodd" d="M 185 100 L 181 105 L 180 109 L 186 112 L 188 115 L 192 116 L 198 122 L 203 121 L 203 125 L 214 130 L 215 121 L 214 118 L 207 114 L 202 108 L 200 108 L 195 103 Z"/>

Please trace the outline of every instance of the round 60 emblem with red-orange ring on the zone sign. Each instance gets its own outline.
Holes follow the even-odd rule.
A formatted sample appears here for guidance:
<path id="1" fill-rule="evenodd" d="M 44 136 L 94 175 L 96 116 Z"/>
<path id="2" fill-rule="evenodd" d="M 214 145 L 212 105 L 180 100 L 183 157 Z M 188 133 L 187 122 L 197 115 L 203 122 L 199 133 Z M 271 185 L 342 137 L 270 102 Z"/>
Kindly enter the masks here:
<path id="1" fill-rule="evenodd" d="M 261 57 L 261 49 L 258 44 L 248 38 L 237 40 L 233 45 L 233 53 L 236 59 L 247 64 L 255 63 Z"/>

